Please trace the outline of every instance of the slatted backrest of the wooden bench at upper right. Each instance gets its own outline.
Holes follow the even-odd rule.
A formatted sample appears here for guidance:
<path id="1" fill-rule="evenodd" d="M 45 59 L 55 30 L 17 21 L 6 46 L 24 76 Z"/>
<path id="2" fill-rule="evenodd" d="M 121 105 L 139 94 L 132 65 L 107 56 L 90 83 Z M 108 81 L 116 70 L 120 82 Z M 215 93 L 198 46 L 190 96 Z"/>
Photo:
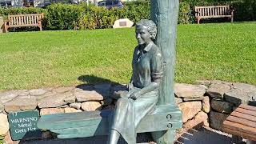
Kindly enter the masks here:
<path id="1" fill-rule="evenodd" d="M 230 15 L 230 6 L 195 6 L 195 17 Z"/>

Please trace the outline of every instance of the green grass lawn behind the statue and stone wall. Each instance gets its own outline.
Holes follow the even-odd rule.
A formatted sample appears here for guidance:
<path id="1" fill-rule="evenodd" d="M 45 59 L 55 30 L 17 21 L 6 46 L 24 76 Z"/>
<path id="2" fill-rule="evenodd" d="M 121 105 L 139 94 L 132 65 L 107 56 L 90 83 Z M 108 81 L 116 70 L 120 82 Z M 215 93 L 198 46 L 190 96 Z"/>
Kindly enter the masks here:
<path id="1" fill-rule="evenodd" d="M 0 34 L 0 90 L 127 83 L 134 28 Z M 179 25 L 175 81 L 256 85 L 256 22 Z"/>

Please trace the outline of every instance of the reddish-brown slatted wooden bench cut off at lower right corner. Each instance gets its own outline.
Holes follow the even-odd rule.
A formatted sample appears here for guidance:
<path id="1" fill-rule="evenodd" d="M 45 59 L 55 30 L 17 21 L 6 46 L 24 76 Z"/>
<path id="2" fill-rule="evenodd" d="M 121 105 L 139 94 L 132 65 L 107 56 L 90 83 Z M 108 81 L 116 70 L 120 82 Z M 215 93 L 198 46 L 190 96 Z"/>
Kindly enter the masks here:
<path id="1" fill-rule="evenodd" d="M 256 141 L 256 107 L 240 105 L 223 122 L 222 130 L 229 134 Z"/>

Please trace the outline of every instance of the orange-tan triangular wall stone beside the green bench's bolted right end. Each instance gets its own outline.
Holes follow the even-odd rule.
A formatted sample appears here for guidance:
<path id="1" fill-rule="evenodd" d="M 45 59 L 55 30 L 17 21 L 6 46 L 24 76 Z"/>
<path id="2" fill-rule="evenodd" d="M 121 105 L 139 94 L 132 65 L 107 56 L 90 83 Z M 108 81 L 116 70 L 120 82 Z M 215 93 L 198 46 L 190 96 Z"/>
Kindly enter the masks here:
<path id="1" fill-rule="evenodd" d="M 195 114 L 202 109 L 201 102 L 183 102 L 178 104 L 179 109 L 182 111 L 182 122 L 194 117 Z"/>

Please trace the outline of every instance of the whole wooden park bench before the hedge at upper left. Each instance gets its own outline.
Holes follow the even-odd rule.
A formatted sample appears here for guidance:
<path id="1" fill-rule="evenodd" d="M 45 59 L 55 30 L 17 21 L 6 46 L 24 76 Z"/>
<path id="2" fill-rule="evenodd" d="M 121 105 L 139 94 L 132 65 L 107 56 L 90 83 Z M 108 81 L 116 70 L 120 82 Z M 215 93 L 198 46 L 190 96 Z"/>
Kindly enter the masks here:
<path id="1" fill-rule="evenodd" d="M 43 14 L 18 14 L 9 15 L 8 21 L 5 22 L 5 31 L 8 32 L 10 27 L 38 26 L 42 31 Z"/>

